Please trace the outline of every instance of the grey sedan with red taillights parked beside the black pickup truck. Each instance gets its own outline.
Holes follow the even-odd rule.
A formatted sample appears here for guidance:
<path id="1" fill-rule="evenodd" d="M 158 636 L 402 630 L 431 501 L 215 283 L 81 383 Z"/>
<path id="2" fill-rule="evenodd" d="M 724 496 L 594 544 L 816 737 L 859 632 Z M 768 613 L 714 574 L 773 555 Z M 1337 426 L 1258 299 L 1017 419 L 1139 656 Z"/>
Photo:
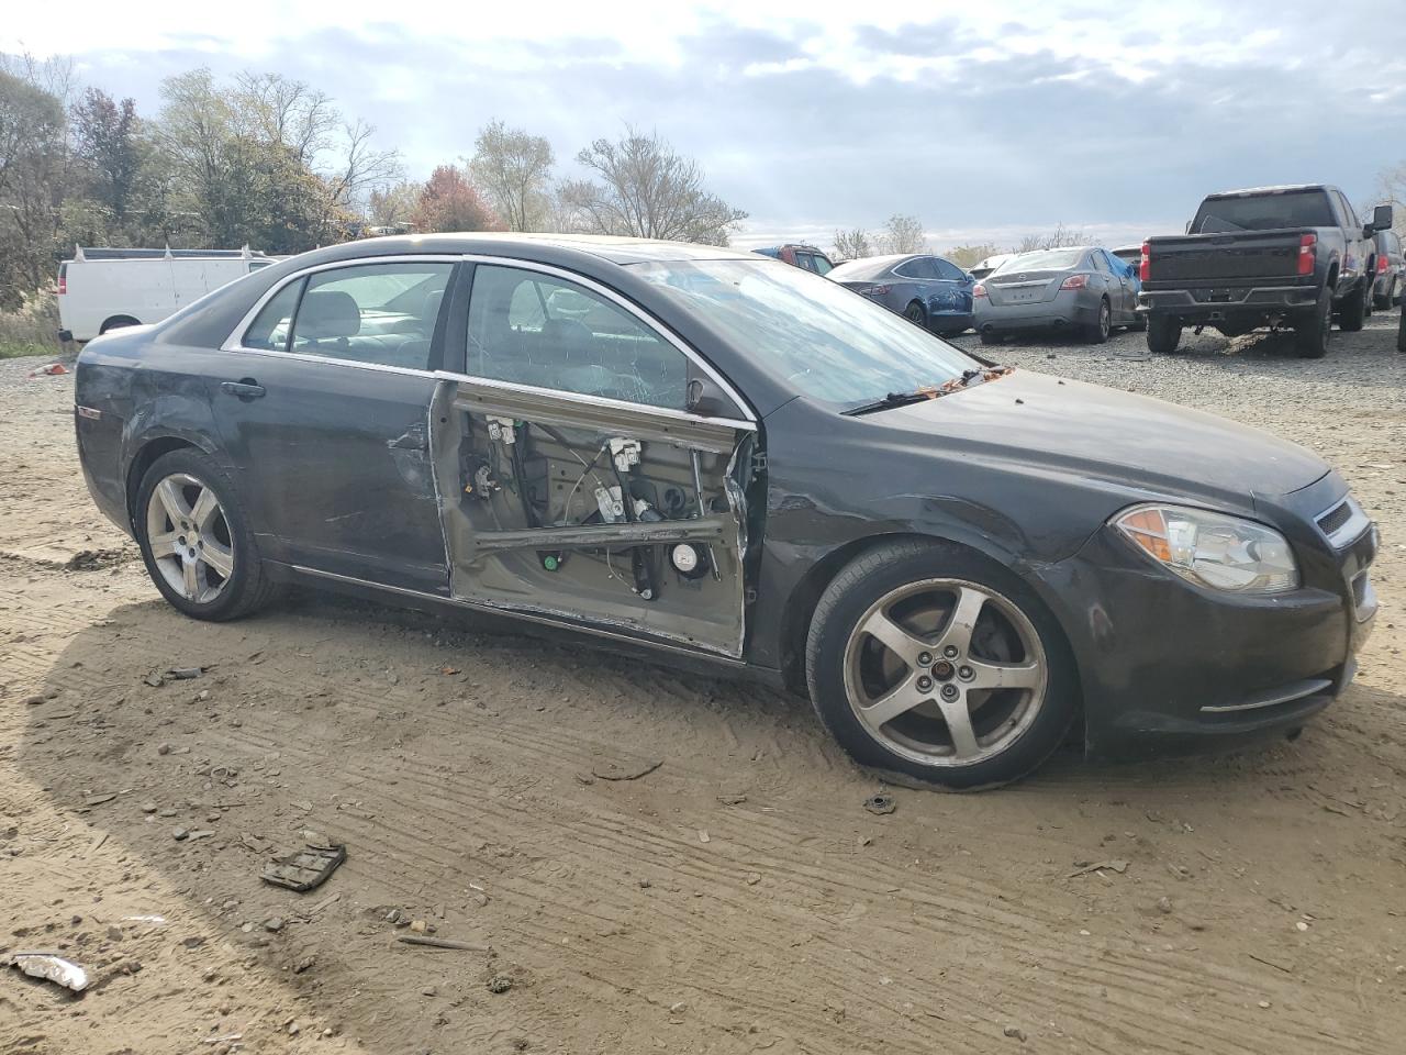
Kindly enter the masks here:
<path id="1" fill-rule="evenodd" d="M 987 345 L 1032 329 L 1073 332 L 1101 345 L 1114 326 L 1139 325 L 1136 279 L 1098 246 L 1012 256 L 973 294 L 974 325 Z"/>

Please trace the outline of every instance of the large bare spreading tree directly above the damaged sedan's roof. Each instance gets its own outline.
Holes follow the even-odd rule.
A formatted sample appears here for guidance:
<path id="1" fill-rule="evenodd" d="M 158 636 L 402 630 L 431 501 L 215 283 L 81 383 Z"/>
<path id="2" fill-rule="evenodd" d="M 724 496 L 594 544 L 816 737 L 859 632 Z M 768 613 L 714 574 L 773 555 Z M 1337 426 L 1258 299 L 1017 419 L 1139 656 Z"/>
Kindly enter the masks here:
<path id="1" fill-rule="evenodd" d="M 619 141 L 596 139 L 576 155 L 596 180 L 561 188 L 575 219 L 603 235 L 666 238 L 727 245 L 747 212 L 703 187 L 703 170 L 658 132 L 633 128 Z"/>

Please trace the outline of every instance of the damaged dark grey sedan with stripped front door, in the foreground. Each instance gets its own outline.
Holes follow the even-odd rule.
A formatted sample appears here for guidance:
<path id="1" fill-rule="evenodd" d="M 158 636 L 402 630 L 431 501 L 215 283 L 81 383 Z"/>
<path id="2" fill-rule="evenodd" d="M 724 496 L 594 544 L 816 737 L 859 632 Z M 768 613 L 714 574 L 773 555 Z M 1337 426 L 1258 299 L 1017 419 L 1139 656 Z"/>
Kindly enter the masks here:
<path id="1" fill-rule="evenodd" d="M 1312 452 L 983 366 L 755 253 L 349 242 L 93 340 L 75 398 L 94 501 L 191 618 L 297 581 L 593 634 L 957 788 L 1076 727 L 1294 730 L 1376 608 L 1376 530 Z"/>

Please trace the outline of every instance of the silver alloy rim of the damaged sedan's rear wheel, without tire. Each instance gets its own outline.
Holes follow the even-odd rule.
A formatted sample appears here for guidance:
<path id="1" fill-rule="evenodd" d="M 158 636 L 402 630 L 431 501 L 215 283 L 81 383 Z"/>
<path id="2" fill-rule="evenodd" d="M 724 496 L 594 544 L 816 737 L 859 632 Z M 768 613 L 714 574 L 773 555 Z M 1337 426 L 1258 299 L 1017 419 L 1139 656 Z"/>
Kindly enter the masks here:
<path id="1" fill-rule="evenodd" d="M 152 488 L 146 544 L 166 584 L 198 605 L 218 598 L 235 574 L 235 549 L 219 498 L 188 473 L 173 473 Z"/>

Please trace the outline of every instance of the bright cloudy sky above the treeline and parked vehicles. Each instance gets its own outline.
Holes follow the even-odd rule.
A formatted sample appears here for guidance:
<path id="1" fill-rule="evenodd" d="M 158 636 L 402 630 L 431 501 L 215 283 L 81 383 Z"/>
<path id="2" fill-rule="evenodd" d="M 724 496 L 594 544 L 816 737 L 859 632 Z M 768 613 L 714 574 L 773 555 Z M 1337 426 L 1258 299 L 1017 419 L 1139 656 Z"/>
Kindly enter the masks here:
<path id="1" fill-rule="evenodd" d="M 564 172 L 628 122 L 751 214 L 738 243 L 828 246 L 911 212 L 942 249 L 1057 222 L 1136 241 L 1237 186 L 1327 180 L 1371 201 L 1406 162 L 1393 7 L 66 0 L 7 13 L 0 49 L 72 55 L 148 114 L 172 73 L 277 70 L 373 121 L 412 176 L 494 117 L 546 135 Z"/>

